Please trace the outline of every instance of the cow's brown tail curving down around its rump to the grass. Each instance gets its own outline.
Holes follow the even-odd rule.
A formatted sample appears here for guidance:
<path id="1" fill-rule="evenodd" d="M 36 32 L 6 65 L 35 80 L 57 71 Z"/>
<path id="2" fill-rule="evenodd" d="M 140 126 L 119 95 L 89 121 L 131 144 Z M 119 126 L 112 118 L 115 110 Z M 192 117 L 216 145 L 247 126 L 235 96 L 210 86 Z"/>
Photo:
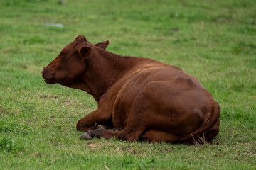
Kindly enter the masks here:
<path id="1" fill-rule="evenodd" d="M 215 123 L 218 121 L 219 117 L 220 117 L 220 106 L 218 106 L 217 102 L 214 102 L 214 106 L 212 109 L 212 116 L 210 117 L 208 124 L 203 124 L 196 131 L 191 132 L 191 134 L 179 138 L 178 142 L 191 143 L 191 142 L 198 142 L 198 140 L 207 140 L 207 139 L 202 139 L 204 137 L 204 133 L 209 128 L 211 128 L 213 125 L 215 125 Z M 201 142 L 203 142 L 203 141 L 201 141 Z M 210 141 L 208 141 L 208 142 L 210 142 Z"/>

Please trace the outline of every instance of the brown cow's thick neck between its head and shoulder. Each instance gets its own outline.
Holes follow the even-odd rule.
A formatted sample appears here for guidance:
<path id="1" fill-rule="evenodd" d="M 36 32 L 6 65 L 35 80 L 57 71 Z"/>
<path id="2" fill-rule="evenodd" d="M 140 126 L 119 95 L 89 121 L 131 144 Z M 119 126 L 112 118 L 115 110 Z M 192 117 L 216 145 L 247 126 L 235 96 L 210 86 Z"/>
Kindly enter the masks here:
<path id="1" fill-rule="evenodd" d="M 124 57 L 106 50 L 95 50 L 87 63 L 84 80 L 96 101 L 133 67 L 139 57 Z"/>

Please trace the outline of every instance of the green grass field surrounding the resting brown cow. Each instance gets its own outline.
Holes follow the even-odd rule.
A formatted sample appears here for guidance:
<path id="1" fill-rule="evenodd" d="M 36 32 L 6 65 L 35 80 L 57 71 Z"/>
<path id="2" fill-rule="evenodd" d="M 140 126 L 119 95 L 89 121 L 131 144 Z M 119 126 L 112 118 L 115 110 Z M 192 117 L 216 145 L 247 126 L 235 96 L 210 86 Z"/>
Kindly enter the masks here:
<path id="1" fill-rule="evenodd" d="M 220 104 L 219 135 L 80 140 L 75 124 L 97 102 L 41 77 L 79 34 L 197 77 Z M 256 169 L 256 1 L 1 0 L 0 40 L 0 169 Z"/>

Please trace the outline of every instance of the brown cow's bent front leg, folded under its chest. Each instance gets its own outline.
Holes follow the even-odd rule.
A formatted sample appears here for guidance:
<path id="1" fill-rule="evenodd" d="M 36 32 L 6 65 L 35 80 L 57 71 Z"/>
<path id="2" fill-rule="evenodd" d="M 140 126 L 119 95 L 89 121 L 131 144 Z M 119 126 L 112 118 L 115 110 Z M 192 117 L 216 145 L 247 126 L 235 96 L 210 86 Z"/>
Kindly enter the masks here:
<path id="1" fill-rule="evenodd" d="M 97 125 L 104 124 L 110 121 L 112 118 L 112 113 L 102 112 L 102 109 L 98 108 L 89 115 L 78 120 L 76 125 L 77 130 L 87 132 L 88 130 L 97 129 Z"/>

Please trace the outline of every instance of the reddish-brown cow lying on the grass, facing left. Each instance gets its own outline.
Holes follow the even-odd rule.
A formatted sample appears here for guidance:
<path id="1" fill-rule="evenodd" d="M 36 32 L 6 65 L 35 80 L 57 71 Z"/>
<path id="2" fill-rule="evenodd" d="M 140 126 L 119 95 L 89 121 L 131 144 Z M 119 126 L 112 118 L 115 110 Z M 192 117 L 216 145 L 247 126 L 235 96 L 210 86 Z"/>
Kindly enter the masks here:
<path id="1" fill-rule="evenodd" d="M 108 44 L 78 35 L 42 71 L 47 84 L 97 101 L 97 110 L 78 120 L 77 130 L 86 132 L 80 137 L 192 143 L 218 135 L 220 108 L 198 79 L 156 60 L 115 55 Z"/>

